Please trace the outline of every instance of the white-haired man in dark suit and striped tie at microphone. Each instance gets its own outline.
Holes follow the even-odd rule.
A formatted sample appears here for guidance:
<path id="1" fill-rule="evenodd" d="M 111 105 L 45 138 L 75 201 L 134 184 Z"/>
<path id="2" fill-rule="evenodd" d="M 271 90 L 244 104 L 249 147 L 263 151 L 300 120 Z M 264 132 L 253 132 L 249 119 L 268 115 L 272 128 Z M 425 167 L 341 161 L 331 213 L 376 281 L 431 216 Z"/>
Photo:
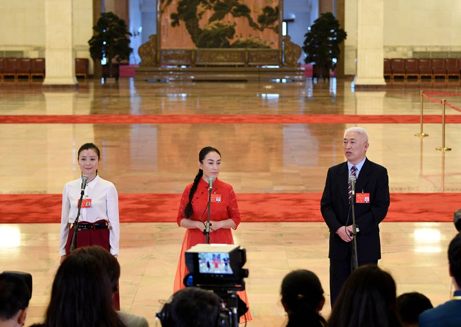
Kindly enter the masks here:
<path id="1" fill-rule="evenodd" d="M 389 207 L 389 178 L 386 168 L 366 158 L 368 146 L 365 129 L 352 127 L 346 130 L 343 148 L 347 161 L 328 169 L 320 202 L 323 219 L 330 229 L 331 306 L 352 271 L 352 213 L 348 185 L 351 175 L 357 178 L 354 208 L 359 266 L 378 264 L 381 259 L 378 225 L 386 217 Z"/>

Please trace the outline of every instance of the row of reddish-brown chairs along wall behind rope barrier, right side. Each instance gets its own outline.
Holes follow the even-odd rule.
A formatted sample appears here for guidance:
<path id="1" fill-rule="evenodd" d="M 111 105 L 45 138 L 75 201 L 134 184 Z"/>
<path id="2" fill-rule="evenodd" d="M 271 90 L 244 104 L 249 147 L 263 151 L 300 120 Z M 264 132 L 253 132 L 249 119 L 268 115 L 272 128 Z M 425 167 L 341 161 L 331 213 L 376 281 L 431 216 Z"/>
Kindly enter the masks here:
<path id="1" fill-rule="evenodd" d="M 448 79 L 450 76 L 460 78 L 461 59 L 384 59 L 384 77 L 400 76 L 408 77 L 429 77 L 431 80 L 440 76 Z"/>

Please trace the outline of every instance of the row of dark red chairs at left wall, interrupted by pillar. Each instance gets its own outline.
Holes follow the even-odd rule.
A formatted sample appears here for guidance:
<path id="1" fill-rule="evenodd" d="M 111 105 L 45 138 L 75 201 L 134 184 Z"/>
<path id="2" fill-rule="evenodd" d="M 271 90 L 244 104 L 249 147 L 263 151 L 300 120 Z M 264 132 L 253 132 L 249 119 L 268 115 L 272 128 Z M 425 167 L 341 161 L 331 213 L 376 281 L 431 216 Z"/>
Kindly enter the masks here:
<path id="1" fill-rule="evenodd" d="M 87 58 L 75 58 L 75 76 L 88 76 L 90 61 Z M 12 77 L 17 81 L 19 76 L 26 76 L 29 81 L 34 76 L 45 78 L 45 58 L 0 58 L 0 80 Z"/>

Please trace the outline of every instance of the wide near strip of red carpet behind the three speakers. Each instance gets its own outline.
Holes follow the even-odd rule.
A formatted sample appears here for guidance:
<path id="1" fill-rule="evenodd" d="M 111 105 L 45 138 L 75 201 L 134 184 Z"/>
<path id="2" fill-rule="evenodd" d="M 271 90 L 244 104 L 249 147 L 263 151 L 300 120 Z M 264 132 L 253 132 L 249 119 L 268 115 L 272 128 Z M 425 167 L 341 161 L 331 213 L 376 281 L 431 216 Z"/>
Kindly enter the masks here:
<path id="1" fill-rule="evenodd" d="M 120 194 L 121 222 L 175 222 L 180 194 Z M 0 223 L 57 223 L 60 194 L 2 194 Z M 237 194 L 243 222 L 323 221 L 319 193 Z M 460 193 L 393 193 L 385 221 L 451 222 Z"/>

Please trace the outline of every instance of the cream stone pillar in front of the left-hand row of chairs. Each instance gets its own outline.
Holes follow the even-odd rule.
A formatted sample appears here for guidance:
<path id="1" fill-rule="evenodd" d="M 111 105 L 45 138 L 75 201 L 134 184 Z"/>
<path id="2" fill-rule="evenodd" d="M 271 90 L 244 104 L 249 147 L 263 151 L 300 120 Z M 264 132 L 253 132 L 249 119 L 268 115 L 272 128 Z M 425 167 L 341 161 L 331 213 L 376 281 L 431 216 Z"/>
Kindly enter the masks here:
<path id="1" fill-rule="evenodd" d="M 73 51 L 73 0 L 45 0 L 44 86 L 77 86 Z"/>

